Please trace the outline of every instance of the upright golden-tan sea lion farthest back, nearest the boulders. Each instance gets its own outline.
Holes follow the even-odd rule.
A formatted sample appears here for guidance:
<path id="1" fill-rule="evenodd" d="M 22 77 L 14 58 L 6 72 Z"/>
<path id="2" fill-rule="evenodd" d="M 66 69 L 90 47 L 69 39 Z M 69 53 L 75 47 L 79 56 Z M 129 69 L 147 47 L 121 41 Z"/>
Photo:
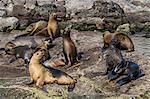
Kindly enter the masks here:
<path id="1" fill-rule="evenodd" d="M 38 33 L 36 33 L 36 35 L 40 34 L 41 32 L 47 30 L 48 34 L 51 38 L 56 38 L 60 36 L 60 29 L 58 26 L 58 22 L 57 22 L 57 13 L 52 13 L 49 15 L 49 21 L 48 21 L 48 25 L 46 28 L 42 29 L 41 31 L 39 31 Z"/>

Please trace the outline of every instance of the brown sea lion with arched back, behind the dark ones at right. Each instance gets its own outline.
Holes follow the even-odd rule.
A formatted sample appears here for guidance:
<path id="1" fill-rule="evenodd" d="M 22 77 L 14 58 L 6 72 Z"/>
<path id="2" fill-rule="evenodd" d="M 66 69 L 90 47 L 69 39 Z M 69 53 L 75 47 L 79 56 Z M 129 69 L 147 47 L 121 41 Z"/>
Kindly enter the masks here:
<path id="1" fill-rule="evenodd" d="M 118 45 L 116 46 L 120 50 L 126 50 L 127 52 L 134 51 L 134 44 L 131 38 L 124 33 L 110 33 L 108 31 L 104 32 L 103 34 L 103 42 L 104 46 L 102 50 L 105 50 L 109 47 L 112 40 L 115 40 Z"/>

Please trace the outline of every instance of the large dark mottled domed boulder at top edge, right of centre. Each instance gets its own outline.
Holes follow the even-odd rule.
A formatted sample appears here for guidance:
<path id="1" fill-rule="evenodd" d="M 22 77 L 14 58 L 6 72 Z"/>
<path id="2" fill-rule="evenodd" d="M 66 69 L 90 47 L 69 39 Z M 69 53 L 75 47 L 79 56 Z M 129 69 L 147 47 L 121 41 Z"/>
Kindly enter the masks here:
<path id="1" fill-rule="evenodd" d="M 91 9 L 76 13 L 80 17 L 122 17 L 123 9 L 114 2 L 95 1 Z"/>

